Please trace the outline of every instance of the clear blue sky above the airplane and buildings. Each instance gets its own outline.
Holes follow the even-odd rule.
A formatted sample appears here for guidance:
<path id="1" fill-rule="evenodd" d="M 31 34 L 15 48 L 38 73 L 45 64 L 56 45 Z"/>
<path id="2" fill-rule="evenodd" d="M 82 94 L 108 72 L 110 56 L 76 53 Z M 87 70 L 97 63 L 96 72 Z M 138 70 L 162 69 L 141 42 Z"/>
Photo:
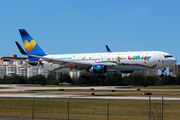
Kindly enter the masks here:
<path id="1" fill-rule="evenodd" d="M 180 63 L 179 0 L 1 0 L 0 56 L 26 31 L 48 54 L 164 51 Z"/>

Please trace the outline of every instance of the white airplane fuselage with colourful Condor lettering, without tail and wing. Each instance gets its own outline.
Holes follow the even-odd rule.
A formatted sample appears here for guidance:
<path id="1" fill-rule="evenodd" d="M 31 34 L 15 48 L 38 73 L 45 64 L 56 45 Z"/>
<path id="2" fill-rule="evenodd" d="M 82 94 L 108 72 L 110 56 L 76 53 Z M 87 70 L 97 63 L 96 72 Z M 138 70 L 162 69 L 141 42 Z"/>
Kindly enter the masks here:
<path id="1" fill-rule="evenodd" d="M 162 69 L 174 65 L 177 61 L 170 54 L 161 51 L 59 54 L 43 57 L 92 64 L 92 66 L 95 64 L 113 64 L 112 67 L 108 67 L 108 71 Z M 58 65 L 45 61 L 43 61 L 43 67 L 53 71 L 77 70 L 73 66 Z"/>

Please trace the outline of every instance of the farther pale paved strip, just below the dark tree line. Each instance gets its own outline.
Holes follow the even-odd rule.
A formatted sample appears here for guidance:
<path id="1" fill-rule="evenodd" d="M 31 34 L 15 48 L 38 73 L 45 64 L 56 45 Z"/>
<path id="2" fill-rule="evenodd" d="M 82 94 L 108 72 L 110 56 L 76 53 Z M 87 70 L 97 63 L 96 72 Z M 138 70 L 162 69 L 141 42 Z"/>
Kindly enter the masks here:
<path id="1" fill-rule="evenodd" d="M 138 86 L 136 86 L 138 87 Z M 141 86 L 140 86 L 141 87 Z M 1 84 L 0 92 L 28 92 L 28 91 L 48 91 L 48 90 L 116 90 L 116 91 L 137 91 L 132 86 L 74 86 L 74 87 L 33 87 L 31 85 L 13 85 L 13 84 Z M 177 91 L 179 89 L 141 89 L 141 91 Z"/>

